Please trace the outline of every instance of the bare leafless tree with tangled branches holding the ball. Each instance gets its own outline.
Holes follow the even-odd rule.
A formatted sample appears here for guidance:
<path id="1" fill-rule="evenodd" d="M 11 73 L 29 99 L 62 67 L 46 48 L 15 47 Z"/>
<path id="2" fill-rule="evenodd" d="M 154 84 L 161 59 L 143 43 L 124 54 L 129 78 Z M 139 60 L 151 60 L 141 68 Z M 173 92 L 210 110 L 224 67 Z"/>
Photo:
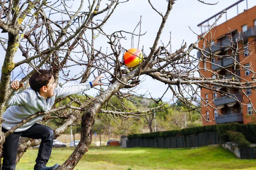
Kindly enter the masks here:
<path id="1" fill-rule="evenodd" d="M 201 0 L 198 1 L 201 2 Z M 127 50 L 122 47 L 120 41 L 125 39 L 125 35 L 132 34 L 141 37 L 143 34 L 135 35 L 127 31 L 115 31 L 112 34 L 107 34 L 103 27 L 115 9 L 118 8 L 119 3 L 125 3 L 125 1 L 109 0 L 105 3 L 102 0 L 88 0 L 87 2 L 76 0 L 76 3 L 80 3 L 80 6 L 76 9 L 71 8 L 73 2 L 68 0 L 53 0 L 51 2 L 47 2 L 47 0 L 0 1 L 0 28 L 5 33 L 1 34 L 0 42 L 3 50 L 6 51 L 0 80 L 0 120 L 2 120 L 5 109 L 5 101 L 12 92 L 12 89 L 9 89 L 12 73 L 20 68 L 21 75 L 23 75 L 21 82 L 26 82 L 37 69 L 47 68 L 53 71 L 55 81 L 59 85 L 64 85 L 64 83 L 60 83 L 60 79 L 66 82 L 79 81 L 82 83 L 90 77 L 95 77 L 95 75 L 105 74 L 106 79 L 102 80 L 105 83 L 104 90 L 99 88 L 98 96 L 94 98 L 86 96 L 83 102 L 70 97 L 71 102 L 66 105 L 30 116 L 5 134 L 2 133 L 0 146 L 3 145 L 6 136 L 13 133 L 15 129 L 34 116 L 44 114 L 44 120 L 41 123 L 49 119 L 63 119 L 63 123 L 55 129 L 55 137 L 81 119 L 81 141 L 70 157 L 59 167 L 60 170 L 71 170 L 88 151 L 92 142 L 92 128 L 97 113 L 106 114 L 106 117 L 111 120 L 108 122 L 109 126 L 111 126 L 111 123 L 119 125 L 117 119 L 123 121 L 138 119 L 142 121 L 141 116 L 154 113 L 154 110 L 157 109 L 164 110 L 168 108 L 163 107 L 166 103 L 162 101 L 162 98 L 165 95 L 170 96 L 170 93 L 166 93 L 169 89 L 172 91 L 172 101 L 179 99 L 190 111 L 197 110 L 201 114 L 195 105 L 198 106 L 198 103 L 206 107 L 212 107 L 212 105 L 207 104 L 206 99 L 200 96 L 200 88 L 210 89 L 238 101 L 236 96 L 230 96 L 226 92 L 218 91 L 213 87 L 219 86 L 239 90 L 255 89 L 256 87 L 253 84 L 254 79 L 241 83 L 238 81 L 239 76 L 233 72 L 230 74 L 234 75 L 234 79 L 221 79 L 218 75 L 216 75 L 216 78 L 197 76 L 198 72 L 200 73 L 204 69 L 200 68 L 199 61 L 210 62 L 211 57 L 233 58 L 235 61 L 234 68 L 246 69 L 254 75 L 250 67 L 245 68 L 236 61 L 235 56 L 244 53 L 244 51 L 243 48 L 237 48 L 235 42 L 229 46 L 233 51 L 231 55 L 216 56 L 211 51 L 198 48 L 198 42 L 201 40 L 205 41 L 206 46 L 210 45 L 212 38 L 207 39 L 206 37 L 215 23 L 209 26 L 209 31 L 200 35 L 199 39 L 190 44 L 188 48 L 185 43 L 180 49 L 172 53 L 170 42 L 166 45 L 158 45 L 160 35 L 175 0 L 166 0 L 167 8 L 165 11 L 163 9 L 161 11 L 157 10 L 148 0 L 152 11 L 159 14 L 161 23 L 158 26 L 154 42 L 150 47 L 147 47 L 151 49 L 150 52 L 144 54 L 143 62 L 134 68 L 127 68 L 120 60 L 123 52 Z M 204 2 L 202 1 L 202 3 Z M 96 48 L 95 40 L 98 36 L 104 36 L 108 39 L 108 51 Z M 191 56 L 190 52 L 193 49 L 201 51 L 202 57 Z M 16 63 L 13 62 L 15 55 L 20 52 L 24 58 L 19 58 Z M 71 70 L 74 70 L 76 74 L 73 74 Z M 144 75 L 152 77 L 154 81 L 169 85 L 168 89 L 159 95 L 159 100 L 155 101 L 158 106 L 145 111 L 133 111 L 126 108 L 129 112 L 115 108 L 111 103 L 111 96 L 116 96 L 122 107 L 125 108 L 123 99 L 126 98 L 132 101 L 131 93 Z M 13 78 L 15 76 L 17 75 L 13 75 Z M 251 86 L 246 86 L 247 84 L 251 84 Z M 122 89 L 126 89 L 126 91 L 123 92 Z M 249 98 L 247 97 L 247 99 Z M 56 100 L 56 103 L 61 102 L 61 100 L 63 99 Z M 79 106 L 72 105 L 74 102 Z M 106 107 L 102 108 L 104 105 Z M 72 113 L 68 113 L 68 108 L 72 109 Z M 188 111 L 186 113 L 190 114 Z M 37 145 L 39 142 L 38 140 L 21 138 L 17 162 L 28 147 Z"/>

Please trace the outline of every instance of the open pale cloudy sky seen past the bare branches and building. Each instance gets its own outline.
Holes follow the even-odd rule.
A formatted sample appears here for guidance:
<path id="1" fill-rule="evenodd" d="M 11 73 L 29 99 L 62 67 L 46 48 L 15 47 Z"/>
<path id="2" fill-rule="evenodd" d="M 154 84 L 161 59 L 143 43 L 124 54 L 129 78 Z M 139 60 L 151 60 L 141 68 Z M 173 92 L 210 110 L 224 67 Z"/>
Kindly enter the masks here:
<path id="1" fill-rule="evenodd" d="M 106 1 L 107 0 L 103 0 Z M 160 41 L 164 44 L 169 42 L 170 32 L 172 32 L 172 52 L 180 48 L 183 42 L 187 43 L 187 47 L 191 43 L 197 41 L 197 35 L 194 34 L 189 27 L 197 34 L 200 34 L 200 28 L 197 26 L 202 21 L 208 19 L 214 14 L 222 11 L 224 8 L 231 6 L 238 0 L 204 0 L 205 3 L 217 3 L 216 5 L 206 5 L 200 3 L 198 0 L 176 0 L 173 5 L 173 9 L 169 14 L 169 18 L 166 22 L 166 26 L 163 29 Z M 85 1 L 84 3 L 86 3 Z M 256 5 L 256 0 L 247 0 L 248 8 Z M 72 2 L 73 3 L 73 2 Z M 108 1 L 109 3 L 109 1 Z M 162 12 L 166 11 L 167 2 L 166 0 L 151 0 L 154 7 Z M 73 4 L 74 9 L 79 4 Z M 84 5 L 87 7 L 87 5 Z M 102 7 L 103 8 L 103 7 Z M 241 13 L 246 8 L 246 0 L 239 4 L 239 13 Z M 227 19 L 230 19 L 236 15 L 236 7 L 227 11 Z M 142 28 L 141 32 L 146 34 L 140 37 L 141 49 L 144 47 L 145 54 L 149 54 L 149 47 L 153 45 L 154 39 L 156 37 L 158 28 L 160 26 L 161 17 L 157 14 L 149 5 L 148 0 L 129 0 L 127 3 L 120 3 L 119 6 L 114 11 L 113 15 L 107 21 L 104 26 L 104 30 L 107 34 L 111 34 L 113 31 L 130 31 L 132 32 L 136 27 L 137 23 L 140 21 L 140 16 L 142 16 Z M 225 16 L 218 24 L 225 21 Z M 213 23 L 211 20 L 210 23 Z M 136 33 L 136 32 L 135 32 Z M 137 31 L 138 34 L 138 31 Z M 97 38 L 95 45 L 98 47 L 104 47 L 107 44 L 107 40 Z M 127 37 L 126 41 L 122 41 L 122 46 L 126 49 L 131 47 L 131 37 Z M 134 40 L 134 47 L 137 48 L 137 41 Z M 104 48 L 103 48 L 104 49 Z M 4 52 L 0 49 L 0 52 Z M 197 51 L 192 51 L 192 55 L 196 55 Z M 18 59 L 20 54 L 17 53 L 15 59 Z M 20 59 L 19 59 L 20 60 Z M 0 67 L 3 64 L 3 57 L 0 57 Z M 92 81 L 93 79 L 90 79 Z M 158 98 L 160 94 L 163 94 L 167 86 L 160 82 L 153 81 L 151 78 L 146 78 L 145 81 L 138 85 L 138 94 L 144 94 L 148 92 L 152 97 Z M 90 90 L 87 94 L 94 95 L 96 91 Z M 149 96 L 148 96 L 149 97 Z M 163 98 L 164 101 L 168 101 L 172 97 L 169 95 Z"/>

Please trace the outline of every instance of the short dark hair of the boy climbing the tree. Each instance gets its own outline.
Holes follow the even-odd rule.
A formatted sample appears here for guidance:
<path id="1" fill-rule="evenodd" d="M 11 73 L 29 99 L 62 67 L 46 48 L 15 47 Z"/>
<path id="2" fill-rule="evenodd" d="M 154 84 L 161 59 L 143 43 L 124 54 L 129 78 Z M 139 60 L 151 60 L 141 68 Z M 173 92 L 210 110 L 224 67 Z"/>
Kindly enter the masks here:
<path id="1" fill-rule="evenodd" d="M 51 71 L 40 69 L 29 78 L 29 85 L 34 91 L 40 92 L 40 88 L 46 86 L 51 78 Z"/>

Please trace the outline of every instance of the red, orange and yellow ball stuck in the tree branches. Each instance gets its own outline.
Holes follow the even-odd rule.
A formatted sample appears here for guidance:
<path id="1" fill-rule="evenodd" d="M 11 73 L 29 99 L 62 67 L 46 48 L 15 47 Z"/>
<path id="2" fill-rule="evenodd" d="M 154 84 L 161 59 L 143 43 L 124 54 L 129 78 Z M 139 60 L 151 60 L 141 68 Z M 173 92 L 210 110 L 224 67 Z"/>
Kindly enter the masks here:
<path id="1" fill-rule="evenodd" d="M 134 67 L 142 62 L 143 54 L 137 48 L 128 49 L 124 54 L 124 62 L 127 67 Z"/>

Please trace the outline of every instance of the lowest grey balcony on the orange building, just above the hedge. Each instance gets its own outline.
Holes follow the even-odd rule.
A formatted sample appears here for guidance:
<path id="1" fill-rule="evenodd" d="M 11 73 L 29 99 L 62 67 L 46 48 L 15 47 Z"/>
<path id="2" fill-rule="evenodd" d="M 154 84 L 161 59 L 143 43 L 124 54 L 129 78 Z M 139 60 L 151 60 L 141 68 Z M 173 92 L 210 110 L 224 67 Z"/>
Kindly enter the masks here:
<path id="1" fill-rule="evenodd" d="M 230 123 L 230 122 L 243 122 L 243 113 L 228 113 L 223 116 L 215 117 L 216 124 Z"/>

